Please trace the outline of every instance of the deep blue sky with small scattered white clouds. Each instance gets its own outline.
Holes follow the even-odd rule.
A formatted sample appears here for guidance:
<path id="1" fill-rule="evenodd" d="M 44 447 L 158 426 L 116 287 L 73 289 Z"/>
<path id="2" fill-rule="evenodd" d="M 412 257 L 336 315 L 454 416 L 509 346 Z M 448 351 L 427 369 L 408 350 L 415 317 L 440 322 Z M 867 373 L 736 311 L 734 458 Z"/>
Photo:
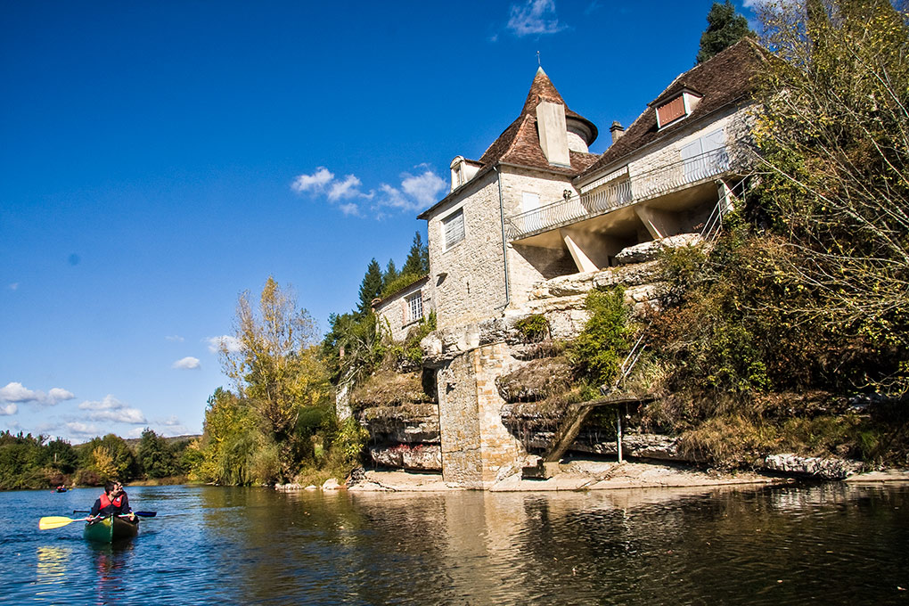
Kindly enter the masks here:
<path id="1" fill-rule="evenodd" d="M 272 276 L 325 333 L 538 62 L 602 153 L 712 4 L 4 3 L 0 431 L 201 433 L 240 293 Z"/>

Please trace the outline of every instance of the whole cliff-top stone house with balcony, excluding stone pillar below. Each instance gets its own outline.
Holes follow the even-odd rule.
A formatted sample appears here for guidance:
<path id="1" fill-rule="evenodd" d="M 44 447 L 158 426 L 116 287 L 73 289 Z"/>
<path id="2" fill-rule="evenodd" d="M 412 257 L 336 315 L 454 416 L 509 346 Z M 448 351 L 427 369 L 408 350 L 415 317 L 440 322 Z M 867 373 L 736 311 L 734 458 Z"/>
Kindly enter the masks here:
<path id="1" fill-rule="evenodd" d="M 761 56 L 743 41 L 678 76 L 627 132 L 613 125 L 601 156 L 587 151 L 594 124 L 539 69 L 514 123 L 478 161 L 455 157 L 451 192 L 420 215 L 439 328 L 500 315 L 534 283 L 713 224 L 740 180 L 734 144 Z"/>

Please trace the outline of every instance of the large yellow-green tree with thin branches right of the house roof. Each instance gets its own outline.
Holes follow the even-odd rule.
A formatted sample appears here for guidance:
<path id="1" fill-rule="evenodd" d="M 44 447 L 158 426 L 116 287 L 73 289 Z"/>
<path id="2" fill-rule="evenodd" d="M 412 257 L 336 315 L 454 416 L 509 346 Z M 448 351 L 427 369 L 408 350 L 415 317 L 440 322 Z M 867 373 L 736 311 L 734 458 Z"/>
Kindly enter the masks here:
<path id="1" fill-rule="evenodd" d="M 779 239 L 764 267 L 781 316 L 822 323 L 909 372 L 909 16 L 888 0 L 760 13 L 766 64 L 751 212 Z M 876 364 L 873 364 L 876 365 Z M 902 368 L 900 368 L 900 365 Z M 884 383 L 886 379 L 880 378 Z M 869 379 L 874 384 L 875 379 Z"/>

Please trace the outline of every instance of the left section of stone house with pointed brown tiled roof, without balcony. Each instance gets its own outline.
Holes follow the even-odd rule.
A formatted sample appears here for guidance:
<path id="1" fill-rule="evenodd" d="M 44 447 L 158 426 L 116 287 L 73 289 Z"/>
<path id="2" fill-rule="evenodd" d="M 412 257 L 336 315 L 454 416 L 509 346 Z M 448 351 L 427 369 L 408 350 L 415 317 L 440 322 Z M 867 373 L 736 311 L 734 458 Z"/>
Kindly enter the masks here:
<path id="1" fill-rule="evenodd" d="M 440 329 L 492 317 L 535 282 L 574 272 L 567 254 L 513 243 L 504 217 L 565 196 L 593 165 L 597 131 L 564 103 L 541 67 L 521 113 L 478 161 L 457 156 L 451 191 L 420 214 L 428 222 L 429 287 Z"/>

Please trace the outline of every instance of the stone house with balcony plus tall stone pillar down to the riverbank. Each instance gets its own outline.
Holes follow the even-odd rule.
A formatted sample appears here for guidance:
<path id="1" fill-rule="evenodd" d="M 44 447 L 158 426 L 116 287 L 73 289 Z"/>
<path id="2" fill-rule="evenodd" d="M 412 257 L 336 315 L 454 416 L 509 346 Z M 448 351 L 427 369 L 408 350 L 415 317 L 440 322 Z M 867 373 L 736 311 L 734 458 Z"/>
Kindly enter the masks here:
<path id="1" fill-rule="evenodd" d="M 437 331 L 422 344 L 445 482 L 488 487 L 524 460 L 496 383 L 526 363 L 512 320 L 545 309 L 548 297 L 574 313 L 560 334 L 570 338 L 586 316 L 584 295 L 567 294 L 565 282 L 589 288 L 636 275 L 646 290 L 642 248 L 709 235 L 734 204 L 763 57 L 745 40 L 679 75 L 627 131 L 613 124 L 602 155 L 589 153 L 594 124 L 568 108 L 541 68 L 521 113 L 480 159 L 454 158 L 450 192 L 419 215 L 429 275 L 377 308 L 399 334 L 416 289 L 423 309 L 427 301 L 435 309 Z"/>

